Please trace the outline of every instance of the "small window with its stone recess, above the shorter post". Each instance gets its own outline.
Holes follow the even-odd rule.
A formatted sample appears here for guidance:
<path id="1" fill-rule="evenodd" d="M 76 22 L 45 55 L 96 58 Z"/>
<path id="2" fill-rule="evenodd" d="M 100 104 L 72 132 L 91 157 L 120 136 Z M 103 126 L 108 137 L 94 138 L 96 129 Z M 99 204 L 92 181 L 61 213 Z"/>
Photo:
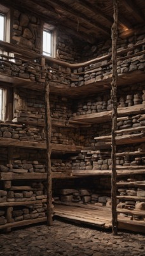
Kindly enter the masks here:
<path id="1" fill-rule="evenodd" d="M 56 30 L 50 24 L 43 26 L 43 54 L 45 56 L 55 57 L 56 49 Z"/>

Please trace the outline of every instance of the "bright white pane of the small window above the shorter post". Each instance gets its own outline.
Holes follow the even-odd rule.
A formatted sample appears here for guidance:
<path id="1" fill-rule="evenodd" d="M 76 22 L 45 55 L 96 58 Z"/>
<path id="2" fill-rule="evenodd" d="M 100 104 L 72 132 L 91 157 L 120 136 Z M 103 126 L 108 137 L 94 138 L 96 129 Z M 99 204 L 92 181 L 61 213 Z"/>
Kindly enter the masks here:
<path id="1" fill-rule="evenodd" d="M 52 56 L 52 33 L 43 31 L 43 54 Z"/>

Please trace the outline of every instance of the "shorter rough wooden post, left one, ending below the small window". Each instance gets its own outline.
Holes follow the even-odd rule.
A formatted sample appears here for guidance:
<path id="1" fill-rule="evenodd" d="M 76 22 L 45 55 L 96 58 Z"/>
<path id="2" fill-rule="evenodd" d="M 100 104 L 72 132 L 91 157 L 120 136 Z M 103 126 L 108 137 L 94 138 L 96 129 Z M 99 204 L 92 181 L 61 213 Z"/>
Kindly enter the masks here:
<path id="1" fill-rule="evenodd" d="M 50 86 L 45 83 L 45 106 L 46 106 L 46 170 L 47 170 L 47 223 L 52 225 L 52 168 L 51 168 L 51 136 L 52 136 L 52 120 L 50 116 Z"/>

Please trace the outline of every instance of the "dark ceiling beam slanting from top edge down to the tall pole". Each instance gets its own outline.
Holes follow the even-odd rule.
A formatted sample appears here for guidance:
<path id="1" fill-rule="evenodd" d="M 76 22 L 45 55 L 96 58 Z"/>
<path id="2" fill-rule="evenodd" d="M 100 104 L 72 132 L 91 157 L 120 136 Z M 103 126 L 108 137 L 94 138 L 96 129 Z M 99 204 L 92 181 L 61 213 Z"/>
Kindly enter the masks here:
<path id="1" fill-rule="evenodd" d="M 52 0 L 46 0 L 45 3 L 50 3 L 51 6 L 54 6 L 55 8 L 60 8 L 60 10 L 62 10 L 62 11 L 65 11 L 67 13 L 71 13 L 71 15 L 76 17 L 77 20 L 79 18 L 79 19 L 83 20 L 83 22 L 88 24 L 89 26 L 93 26 L 93 27 L 103 31 L 103 33 L 105 33 L 106 35 L 111 36 L 111 31 L 109 31 L 109 29 L 104 28 L 104 26 L 102 26 L 99 22 L 96 22 L 96 20 L 89 19 L 83 13 L 80 13 L 77 10 L 71 8 L 71 6 L 68 6 L 67 4 L 62 3 L 59 0 L 53 0 L 53 1 Z"/>

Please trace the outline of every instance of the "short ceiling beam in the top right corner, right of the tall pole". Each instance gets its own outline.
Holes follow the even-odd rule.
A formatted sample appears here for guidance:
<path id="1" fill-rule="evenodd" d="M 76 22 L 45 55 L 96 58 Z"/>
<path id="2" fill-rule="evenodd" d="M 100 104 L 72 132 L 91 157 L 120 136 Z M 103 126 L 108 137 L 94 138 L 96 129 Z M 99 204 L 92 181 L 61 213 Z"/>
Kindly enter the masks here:
<path id="1" fill-rule="evenodd" d="M 139 10 L 139 8 L 137 8 L 136 4 L 134 3 L 134 1 L 132 0 L 121 0 L 121 4 L 123 4 L 123 6 L 128 10 L 128 12 L 132 13 L 132 16 L 134 16 L 134 18 L 138 21 L 138 22 L 144 22 L 144 15 L 141 12 L 141 10 Z"/>

